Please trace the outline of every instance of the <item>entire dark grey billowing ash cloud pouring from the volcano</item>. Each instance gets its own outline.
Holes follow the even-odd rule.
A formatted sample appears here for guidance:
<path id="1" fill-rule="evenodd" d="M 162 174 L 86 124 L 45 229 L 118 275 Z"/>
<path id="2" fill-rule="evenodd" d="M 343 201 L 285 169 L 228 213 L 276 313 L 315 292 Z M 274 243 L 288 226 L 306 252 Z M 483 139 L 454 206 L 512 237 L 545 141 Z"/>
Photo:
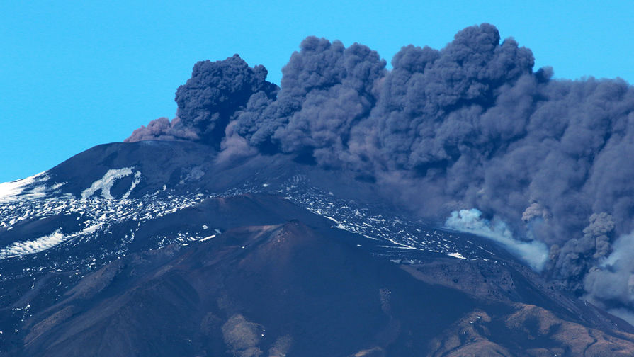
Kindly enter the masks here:
<path id="1" fill-rule="evenodd" d="M 176 92 L 177 117 L 128 140 L 291 154 L 399 192 L 420 215 L 444 222 L 453 212 L 453 229 L 465 222 L 458 211 L 475 208 L 478 227 L 503 222 L 508 237 L 543 242 L 545 274 L 597 297 L 602 273 L 634 281 L 634 265 L 616 262 L 634 259 L 616 250 L 632 239 L 613 245 L 634 229 L 634 88 L 553 80 L 533 63 L 486 23 L 442 50 L 402 47 L 390 71 L 368 47 L 311 37 L 279 91 L 237 56 L 199 62 Z M 634 307 L 634 289 L 597 298 Z"/>

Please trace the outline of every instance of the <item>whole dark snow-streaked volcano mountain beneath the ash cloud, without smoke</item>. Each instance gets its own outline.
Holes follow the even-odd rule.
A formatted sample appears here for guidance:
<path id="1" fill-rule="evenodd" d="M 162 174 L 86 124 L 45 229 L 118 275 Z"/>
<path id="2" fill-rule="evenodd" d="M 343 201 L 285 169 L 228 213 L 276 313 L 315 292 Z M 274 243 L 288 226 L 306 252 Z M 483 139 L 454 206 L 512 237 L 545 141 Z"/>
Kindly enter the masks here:
<path id="1" fill-rule="evenodd" d="M 489 239 L 284 154 L 100 145 L 0 197 L 2 356 L 632 356 Z"/>

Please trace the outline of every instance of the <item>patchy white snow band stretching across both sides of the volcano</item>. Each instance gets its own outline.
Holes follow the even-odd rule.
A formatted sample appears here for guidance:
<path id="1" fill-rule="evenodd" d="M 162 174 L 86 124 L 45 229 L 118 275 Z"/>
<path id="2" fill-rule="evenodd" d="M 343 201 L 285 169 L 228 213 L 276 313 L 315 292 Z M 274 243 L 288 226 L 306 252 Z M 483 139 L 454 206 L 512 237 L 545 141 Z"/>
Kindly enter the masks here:
<path id="1" fill-rule="evenodd" d="M 115 182 L 126 176 L 132 177 L 128 191 L 120 197 L 114 197 L 111 188 Z M 333 229 L 342 229 L 346 232 L 358 234 L 372 241 L 379 251 L 375 254 L 394 258 L 398 261 L 416 261 L 417 254 L 444 254 L 458 259 L 483 259 L 493 253 L 486 244 L 475 244 L 469 240 L 457 237 L 451 232 L 443 232 L 430 228 L 420 222 L 397 217 L 386 210 L 375 210 L 365 205 L 360 205 L 353 200 L 341 200 L 332 193 L 325 192 L 312 186 L 305 176 L 292 176 L 286 180 L 269 183 L 254 179 L 244 183 L 242 187 L 235 187 L 224 192 L 196 192 L 176 194 L 171 188 L 163 186 L 155 193 L 130 198 L 130 193 L 142 180 L 142 173 L 132 167 L 122 169 L 108 169 L 105 174 L 94 181 L 90 187 L 84 189 L 81 198 L 72 194 L 64 194 L 56 191 L 57 195 L 33 197 L 35 192 L 50 192 L 52 188 L 59 188 L 55 184 L 50 188 L 39 189 L 40 183 L 47 177 L 44 174 L 33 176 L 29 179 L 15 181 L 4 185 L 4 196 L 10 200 L 0 201 L 0 239 L 2 230 L 9 232 L 26 222 L 34 222 L 47 217 L 64 217 L 75 215 L 77 220 L 84 222 L 84 229 L 79 232 L 62 232 L 61 226 L 50 227 L 50 232 L 42 237 L 28 239 L 27 241 L 13 239 L 0 245 L 0 260 L 16 256 L 28 256 L 43 251 L 52 251 L 52 248 L 64 249 L 62 254 L 72 254 L 74 246 L 91 242 L 100 237 L 108 237 L 108 241 L 118 242 L 111 250 L 95 252 L 105 259 L 106 256 L 125 255 L 128 246 L 135 239 L 135 232 L 144 222 L 155 220 L 165 215 L 198 205 L 207 198 L 238 196 L 245 193 L 267 193 L 285 196 L 300 208 L 331 220 Z M 265 182 L 263 184 L 263 182 Z M 38 188 L 38 190 L 34 190 Z M 98 195 L 101 191 L 101 195 Z M 38 198 L 38 199 L 26 199 Z M 58 218 L 55 218 L 57 220 Z M 133 222 L 132 225 L 129 225 Z M 111 228 L 118 225 L 129 225 L 128 231 L 117 232 L 113 236 Z M 183 226 L 184 227 L 184 226 Z M 206 226 L 205 226 L 206 227 Z M 203 227 L 203 230 L 205 230 Z M 206 227 L 208 228 L 208 227 Z M 166 244 L 189 244 L 194 241 L 205 241 L 214 236 L 200 232 L 191 232 L 186 228 L 181 232 L 172 232 L 168 235 L 156 235 L 152 237 L 155 247 Z M 217 232 L 220 234 L 220 232 Z M 115 240 L 112 240 L 115 239 Z M 72 242 L 72 246 L 69 246 Z M 98 243 L 98 239 L 94 242 Z M 366 244 L 363 244 L 365 246 Z M 112 250 L 114 249 L 114 250 Z M 78 260 L 79 259 L 79 260 Z M 89 259 L 94 262 L 94 257 Z M 66 263 L 81 266 L 79 256 Z M 43 266 L 43 268 L 45 268 Z M 57 266 L 57 268 L 60 268 Z"/>

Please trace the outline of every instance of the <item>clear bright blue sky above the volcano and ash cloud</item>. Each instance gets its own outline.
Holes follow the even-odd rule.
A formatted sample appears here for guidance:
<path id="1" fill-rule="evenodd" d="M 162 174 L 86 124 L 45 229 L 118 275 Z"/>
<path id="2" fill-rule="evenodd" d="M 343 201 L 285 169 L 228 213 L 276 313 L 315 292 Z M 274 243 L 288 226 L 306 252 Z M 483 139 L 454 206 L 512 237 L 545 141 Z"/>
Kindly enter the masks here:
<path id="1" fill-rule="evenodd" d="M 440 48 L 458 30 L 489 22 L 555 77 L 634 83 L 633 18 L 632 0 L 4 0 L 0 182 L 172 118 L 174 92 L 198 60 L 239 53 L 279 83 L 307 35 L 368 45 L 389 63 L 403 45 Z"/>

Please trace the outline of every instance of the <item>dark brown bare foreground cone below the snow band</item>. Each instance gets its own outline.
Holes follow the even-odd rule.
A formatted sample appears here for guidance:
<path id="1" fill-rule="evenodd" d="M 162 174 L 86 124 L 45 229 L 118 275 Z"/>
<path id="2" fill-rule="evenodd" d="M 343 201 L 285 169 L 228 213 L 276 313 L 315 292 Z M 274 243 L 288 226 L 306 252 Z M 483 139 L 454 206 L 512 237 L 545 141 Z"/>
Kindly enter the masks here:
<path id="1" fill-rule="evenodd" d="M 468 295 L 294 221 L 115 261 L 28 321 L 25 353 L 397 356 L 424 352 L 473 308 Z"/>

